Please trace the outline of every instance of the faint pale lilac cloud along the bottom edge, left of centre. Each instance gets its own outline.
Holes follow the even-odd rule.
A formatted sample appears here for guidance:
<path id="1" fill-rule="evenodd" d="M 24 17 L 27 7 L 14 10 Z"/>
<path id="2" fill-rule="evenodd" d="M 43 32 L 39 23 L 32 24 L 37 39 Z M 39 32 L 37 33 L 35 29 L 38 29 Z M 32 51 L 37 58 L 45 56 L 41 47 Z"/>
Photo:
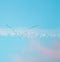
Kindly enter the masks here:
<path id="1" fill-rule="evenodd" d="M 41 62 L 40 57 L 26 57 L 15 54 L 12 56 L 12 62 Z"/>

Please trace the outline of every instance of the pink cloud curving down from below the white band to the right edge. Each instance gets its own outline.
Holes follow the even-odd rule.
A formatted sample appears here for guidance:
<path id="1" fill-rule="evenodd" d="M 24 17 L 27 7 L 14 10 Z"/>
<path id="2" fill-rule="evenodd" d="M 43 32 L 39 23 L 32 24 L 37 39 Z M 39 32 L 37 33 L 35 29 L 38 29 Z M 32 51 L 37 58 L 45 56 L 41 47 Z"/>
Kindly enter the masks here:
<path id="1" fill-rule="evenodd" d="M 38 51 L 40 53 L 42 53 L 43 56 L 45 57 L 49 57 L 51 59 L 60 59 L 60 44 L 56 44 L 56 48 L 57 49 L 49 49 L 49 48 L 44 48 L 41 46 L 40 43 L 38 43 L 38 41 L 36 40 L 31 40 L 30 39 L 30 50 L 31 51 Z"/>

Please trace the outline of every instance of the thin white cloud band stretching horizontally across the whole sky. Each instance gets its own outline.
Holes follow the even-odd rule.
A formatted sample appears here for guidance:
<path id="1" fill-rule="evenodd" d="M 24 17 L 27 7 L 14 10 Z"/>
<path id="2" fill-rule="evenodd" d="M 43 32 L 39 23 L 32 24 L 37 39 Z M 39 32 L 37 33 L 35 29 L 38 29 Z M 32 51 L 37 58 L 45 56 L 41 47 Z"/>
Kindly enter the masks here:
<path id="1" fill-rule="evenodd" d="M 58 30 L 57 30 L 58 31 Z M 60 33 L 57 31 L 53 32 L 53 30 L 34 30 L 34 29 L 1 29 L 0 28 L 0 35 L 10 35 L 10 36 L 18 36 L 18 35 L 23 35 L 26 36 L 27 38 L 29 37 L 60 37 Z"/>

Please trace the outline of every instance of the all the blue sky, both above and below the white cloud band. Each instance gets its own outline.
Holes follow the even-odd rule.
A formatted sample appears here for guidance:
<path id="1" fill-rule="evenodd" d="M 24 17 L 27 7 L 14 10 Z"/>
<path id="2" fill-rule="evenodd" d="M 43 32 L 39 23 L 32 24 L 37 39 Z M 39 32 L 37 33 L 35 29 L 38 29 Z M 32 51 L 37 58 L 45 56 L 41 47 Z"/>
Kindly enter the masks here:
<path id="1" fill-rule="evenodd" d="M 60 29 L 60 0 L 0 0 L 0 27 L 9 28 L 7 25 L 14 29 L 30 28 L 33 26 L 47 30 Z M 42 41 L 41 43 L 43 43 L 42 46 L 44 47 L 51 42 L 52 38 L 37 38 L 36 41 L 37 40 Z M 44 40 L 46 42 L 44 42 Z M 56 42 L 57 40 L 60 39 L 57 38 Z M 30 59 L 32 57 L 33 59 L 41 58 L 47 60 L 46 62 L 50 61 L 50 59 L 41 56 L 41 53 L 38 54 L 39 50 L 33 50 L 31 52 L 28 41 L 32 41 L 32 39 L 30 40 L 30 38 L 27 39 L 25 37 L 19 38 L 17 36 L 0 36 L 0 62 L 15 62 L 15 58 L 21 57 L 23 57 L 21 58 L 23 60 L 27 60 L 27 57 Z M 36 43 L 39 44 L 38 42 Z M 34 49 L 34 47 L 32 49 Z M 13 60 L 12 57 L 14 57 Z M 31 60 L 35 62 L 33 59 Z M 37 60 L 40 61 L 40 59 Z M 51 62 L 54 60 L 52 59 Z M 59 60 L 56 61 L 59 62 Z"/>

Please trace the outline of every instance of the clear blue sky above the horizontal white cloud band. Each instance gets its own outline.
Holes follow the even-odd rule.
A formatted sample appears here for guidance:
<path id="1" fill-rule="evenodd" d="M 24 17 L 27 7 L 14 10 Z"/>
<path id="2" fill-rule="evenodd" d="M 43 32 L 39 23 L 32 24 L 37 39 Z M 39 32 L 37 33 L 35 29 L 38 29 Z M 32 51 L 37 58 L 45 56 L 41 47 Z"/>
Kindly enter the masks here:
<path id="1" fill-rule="evenodd" d="M 59 0 L 1 0 L 0 25 L 60 28 Z"/>

